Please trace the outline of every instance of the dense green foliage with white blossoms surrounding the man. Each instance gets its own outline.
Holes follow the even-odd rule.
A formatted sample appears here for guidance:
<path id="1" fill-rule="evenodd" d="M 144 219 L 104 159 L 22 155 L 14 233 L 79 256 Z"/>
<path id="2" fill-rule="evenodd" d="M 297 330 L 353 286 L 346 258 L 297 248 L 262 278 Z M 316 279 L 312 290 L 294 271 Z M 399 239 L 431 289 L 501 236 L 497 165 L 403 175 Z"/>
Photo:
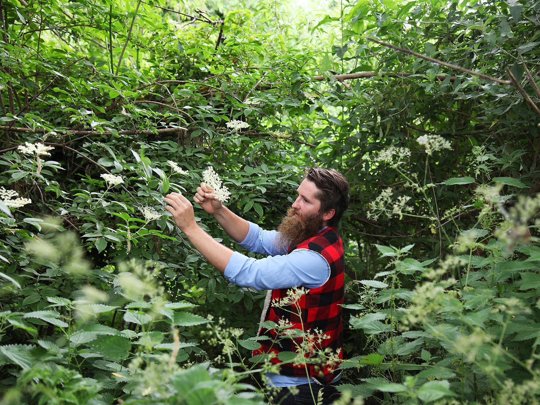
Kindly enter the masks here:
<path id="1" fill-rule="evenodd" d="M 514 86 L 366 39 L 508 67 L 538 103 L 517 53 L 537 78 L 538 3 L 199 3 L 0 4 L 3 401 L 262 402 L 264 293 L 162 199 L 212 165 L 231 210 L 271 227 L 320 164 L 351 187 L 340 390 L 538 403 L 538 117 Z"/>

